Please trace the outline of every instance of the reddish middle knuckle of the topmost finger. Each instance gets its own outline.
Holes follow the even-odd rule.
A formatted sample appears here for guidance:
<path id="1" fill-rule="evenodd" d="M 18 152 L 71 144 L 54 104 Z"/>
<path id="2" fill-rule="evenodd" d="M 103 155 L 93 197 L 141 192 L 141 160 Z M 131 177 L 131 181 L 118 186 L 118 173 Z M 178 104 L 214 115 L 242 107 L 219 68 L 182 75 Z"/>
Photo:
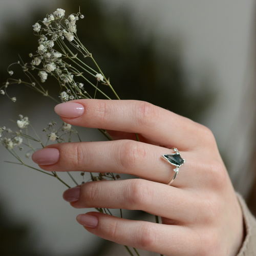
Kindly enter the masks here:
<path id="1" fill-rule="evenodd" d="M 135 108 L 139 125 L 152 126 L 159 119 L 159 109 L 151 103 L 140 101 Z"/>

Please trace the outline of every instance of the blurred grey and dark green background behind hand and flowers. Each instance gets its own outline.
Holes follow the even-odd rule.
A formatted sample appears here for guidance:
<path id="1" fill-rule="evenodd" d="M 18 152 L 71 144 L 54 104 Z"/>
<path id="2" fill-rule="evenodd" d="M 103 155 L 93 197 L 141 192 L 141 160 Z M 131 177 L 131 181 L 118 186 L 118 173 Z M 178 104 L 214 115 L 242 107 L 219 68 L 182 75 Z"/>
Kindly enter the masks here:
<path id="1" fill-rule="evenodd" d="M 79 39 L 120 98 L 145 100 L 209 127 L 234 187 L 256 214 L 254 1 L 0 0 L 1 84 L 18 54 L 31 61 L 38 46 L 32 25 L 57 8 L 67 16 L 79 6 L 85 16 L 77 23 Z M 51 99 L 21 84 L 8 92 L 17 102 L 0 95 L 0 126 L 15 130 L 11 120 L 19 114 L 39 133 L 49 121 L 61 124 Z M 49 92 L 58 89 L 50 84 Z M 79 132 L 84 141 L 104 140 L 97 130 Z M 6 160 L 13 161 L 0 147 L 0 255 L 128 255 L 76 222 L 92 209 L 63 201 L 63 184 Z M 142 211 L 124 217 L 155 221 Z"/>

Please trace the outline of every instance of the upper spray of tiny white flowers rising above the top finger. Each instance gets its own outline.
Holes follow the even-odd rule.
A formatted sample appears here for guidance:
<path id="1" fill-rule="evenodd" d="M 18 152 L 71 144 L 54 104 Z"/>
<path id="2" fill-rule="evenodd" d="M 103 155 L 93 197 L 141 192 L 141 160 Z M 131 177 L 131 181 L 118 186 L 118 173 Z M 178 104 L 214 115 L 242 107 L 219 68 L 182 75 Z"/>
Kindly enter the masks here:
<path id="1" fill-rule="evenodd" d="M 23 81 L 22 79 L 9 78 L 5 85 L 0 87 L 0 94 L 7 95 L 15 102 L 16 97 L 10 97 L 6 89 L 9 84 L 24 83 L 26 86 L 40 92 L 42 95 L 53 98 L 41 84 L 46 82 L 49 76 L 52 76 L 58 81 L 61 87 L 59 98 L 62 102 L 73 99 L 92 98 L 85 90 L 84 83 L 75 81 L 78 79 L 76 77 L 80 77 L 79 80 L 83 79 L 93 86 L 96 92 L 110 99 L 99 88 L 98 82 L 110 86 L 111 90 L 115 93 L 114 89 L 110 85 L 109 80 L 105 80 L 105 76 L 93 59 L 92 54 L 81 44 L 77 37 L 76 22 L 79 20 L 79 17 L 81 19 L 84 18 L 80 12 L 70 14 L 68 18 L 65 18 L 65 10 L 58 8 L 53 14 L 47 15 L 42 21 L 39 20 L 35 23 L 33 30 L 34 34 L 38 36 L 36 53 L 29 54 L 32 60 L 28 63 L 24 63 L 23 61 L 16 62 L 16 64 L 22 67 L 24 73 L 26 73 L 26 77 L 29 77 L 30 80 Z M 71 51 L 67 44 L 71 44 L 75 47 L 76 52 Z M 96 65 L 96 70 L 99 70 L 100 73 L 88 66 L 88 64 L 83 63 L 78 53 L 81 54 L 82 57 L 91 58 L 93 65 Z M 36 79 L 35 75 L 32 75 L 30 70 L 36 71 L 40 79 Z M 8 72 L 10 75 L 13 75 L 13 71 L 9 70 L 9 68 Z M 115 95 L 117 96 L 116 93 Z"/>

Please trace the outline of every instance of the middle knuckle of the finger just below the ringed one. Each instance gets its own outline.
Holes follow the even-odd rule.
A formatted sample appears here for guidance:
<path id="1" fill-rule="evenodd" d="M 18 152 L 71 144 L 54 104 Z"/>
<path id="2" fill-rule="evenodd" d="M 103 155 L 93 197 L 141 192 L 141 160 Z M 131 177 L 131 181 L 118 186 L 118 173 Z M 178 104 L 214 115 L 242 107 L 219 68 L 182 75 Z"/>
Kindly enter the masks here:
<path id="1" fill-rule="evenodd" d="M 152 202 L 153 189 L 148 186 L 147 182 L 140 179 L 133 179 L 127 186 L 128 193 L 125 192 L 125 199 L 134 209 L 141 209 L 142 206 Z"/>

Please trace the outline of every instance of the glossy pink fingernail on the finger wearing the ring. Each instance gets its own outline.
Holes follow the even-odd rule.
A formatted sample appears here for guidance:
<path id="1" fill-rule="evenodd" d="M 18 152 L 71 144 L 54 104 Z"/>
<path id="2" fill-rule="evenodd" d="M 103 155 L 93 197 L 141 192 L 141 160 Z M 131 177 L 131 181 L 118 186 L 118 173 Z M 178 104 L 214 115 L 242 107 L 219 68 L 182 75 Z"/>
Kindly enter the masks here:
<path id="1" fill-rule="evenodd" d="M 32 155 L 32 160 L 40 165 L 55 164 L 59 160 L 59 150 L 57 148 L 42 148 Z"/>

